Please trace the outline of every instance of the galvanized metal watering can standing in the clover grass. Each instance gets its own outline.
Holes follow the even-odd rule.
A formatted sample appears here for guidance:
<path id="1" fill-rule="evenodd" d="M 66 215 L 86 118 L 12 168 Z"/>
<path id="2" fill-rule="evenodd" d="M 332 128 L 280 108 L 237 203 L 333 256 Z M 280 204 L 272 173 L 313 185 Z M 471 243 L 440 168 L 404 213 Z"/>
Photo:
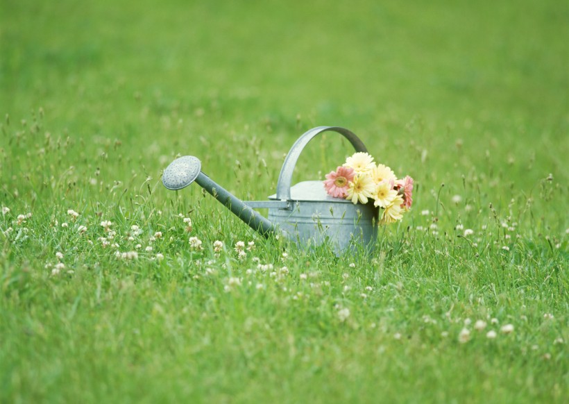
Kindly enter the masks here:
<path id="1" fill-rule="evenodd" d="M 278 177 L 277 192 L 268 201 L 241 201 L 215 183 L 201 171 L 198 158 L 185 155 L 164 170 L 162 183 L 169 190 L 181 190 L 194 181 L 223 203 L 248 226 L 267 237 L 284 235 L 301 246 L 316 246 L 329 242 L 334 252 L 340 253 L 362 244 L 371 251 L 377 239 L 379 208 L 368 203 L 333 198 L 325 191 L 323 182 L 303 181 L 291 187 L 292 174 L 300 153 L 317 135 L 337 132 L 354 146 L 356 151 L 367 152 L 366 146 L 352 132 L 337 126 L 312 128 L 296 140 L 291 147 Z M 264 218 L 256 208 L 268 208 Z"/>

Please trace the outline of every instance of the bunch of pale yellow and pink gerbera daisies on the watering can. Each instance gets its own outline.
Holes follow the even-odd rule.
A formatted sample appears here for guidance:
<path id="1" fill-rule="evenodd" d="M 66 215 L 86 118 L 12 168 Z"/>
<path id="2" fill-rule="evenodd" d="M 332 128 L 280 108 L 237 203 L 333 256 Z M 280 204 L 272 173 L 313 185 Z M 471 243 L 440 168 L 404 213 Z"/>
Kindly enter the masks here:
<path id="1" fill-rule="evenodd" d="M 413 178 L 398 179 L 386 165 L 376 165 L 368 153 L 354 153 L 336 171 L 326 174 L 324 188 L 334 198 L 368 203 L 382 209 L 382 224 L 395 223 L 413 203 Z"/>

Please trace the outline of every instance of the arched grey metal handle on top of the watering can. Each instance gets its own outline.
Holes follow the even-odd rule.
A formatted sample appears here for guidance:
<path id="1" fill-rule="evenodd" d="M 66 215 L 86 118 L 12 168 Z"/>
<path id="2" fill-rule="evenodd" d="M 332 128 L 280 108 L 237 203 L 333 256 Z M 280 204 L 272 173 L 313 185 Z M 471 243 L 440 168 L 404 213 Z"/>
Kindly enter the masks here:
<path id="1" fill-rule="evenodd" d="M 346 137 L 352 146 L 354 146 L 356 151 L 368 151 L 366 146 L 364 146 L 364 143 L 359 140 L 359 137 L 348 131 L 346 128 L 340 128 L 339 126 L 318 126 L 317 128 L 310 129 L 300 136 L 296 142 L 294 142 L 289 154 L 287 154 L 287 157 L 285 158 L 285 163 L 282 165 L 282 169 L 280 169 L 280 174 L 278 176 L 277 199 L 285 201 L 289 201 L 291 199 L 292 173 L 296 166 L 296 162 L 298 161 L 298 157 L 300 157 L 300 153 L 302 153 L 308 142 L 314 139 L 316 135 L 328 131 L 337 132 L 340 135 L 343 135 L 343 137 Z"/>

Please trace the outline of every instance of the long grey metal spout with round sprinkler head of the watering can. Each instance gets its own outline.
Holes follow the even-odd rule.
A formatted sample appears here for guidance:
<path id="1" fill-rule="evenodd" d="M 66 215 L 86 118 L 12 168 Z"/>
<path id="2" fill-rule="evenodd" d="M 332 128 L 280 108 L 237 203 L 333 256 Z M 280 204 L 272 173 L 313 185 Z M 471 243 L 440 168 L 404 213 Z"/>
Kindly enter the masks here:
<path id="1" fill-rule="evenodd" d="M 201 171 L 201 161 L 192 156 L 185 155 L 177 158 L 164 170 L 162 184 L 169 190 L 181 190 L 196 181 L 204 190 L 209 192 L 215 199 L 223 203 L 233 214 L 245 222 L 250 228 L 256 230 L 264 237 L 271 233 L 277 233 L 271 221 L 253 210 L 249 205 L 225 190 Z"/>

